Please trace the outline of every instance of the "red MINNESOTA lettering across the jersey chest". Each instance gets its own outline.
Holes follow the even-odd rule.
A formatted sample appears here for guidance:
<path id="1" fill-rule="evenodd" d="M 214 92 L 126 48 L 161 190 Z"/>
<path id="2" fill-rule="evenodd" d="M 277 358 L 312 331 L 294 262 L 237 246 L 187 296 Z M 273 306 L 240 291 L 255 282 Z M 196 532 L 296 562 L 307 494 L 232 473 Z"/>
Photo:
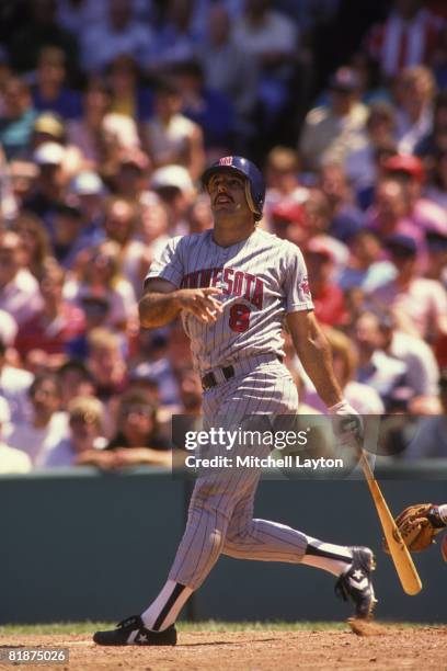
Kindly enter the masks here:
<path id="1" fill-rule="evenodd" d="M 232 268 L 203 268 L 184 275 L 181 288 L 206 288 L 219 286 L 222 293 L 241 296 L 259 310 L 264 300 L 264 284 L 260 277 Z"/>

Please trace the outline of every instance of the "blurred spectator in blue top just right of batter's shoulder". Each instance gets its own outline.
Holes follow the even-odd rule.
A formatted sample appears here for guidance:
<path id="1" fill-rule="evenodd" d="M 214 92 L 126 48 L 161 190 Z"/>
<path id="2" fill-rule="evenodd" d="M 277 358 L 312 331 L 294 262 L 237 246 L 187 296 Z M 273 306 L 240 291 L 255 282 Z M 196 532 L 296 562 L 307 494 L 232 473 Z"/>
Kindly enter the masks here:
<path id="1" fill-rule="evenodd" d="M 319 172 L 319 186 L 331 207 L 329 234 L 348 243 L 365 226 L 365 217 L 355 202 L 346 172 L 341 163 L 324 163 Z"/>

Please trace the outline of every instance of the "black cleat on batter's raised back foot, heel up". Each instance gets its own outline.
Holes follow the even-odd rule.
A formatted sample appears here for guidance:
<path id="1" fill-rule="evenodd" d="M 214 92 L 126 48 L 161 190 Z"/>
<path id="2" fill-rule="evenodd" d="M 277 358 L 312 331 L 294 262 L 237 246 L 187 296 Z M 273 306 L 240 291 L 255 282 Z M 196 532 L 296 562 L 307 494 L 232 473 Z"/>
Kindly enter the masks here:
<path id="1" fill-rule="evenodd" d="M 376 560 L 369 547 L 353 547 L 353 562 L 335 583 L 335 594 L 355 605 L 355 617 L 368 618 L 377 603 L 371 581 Z"/>

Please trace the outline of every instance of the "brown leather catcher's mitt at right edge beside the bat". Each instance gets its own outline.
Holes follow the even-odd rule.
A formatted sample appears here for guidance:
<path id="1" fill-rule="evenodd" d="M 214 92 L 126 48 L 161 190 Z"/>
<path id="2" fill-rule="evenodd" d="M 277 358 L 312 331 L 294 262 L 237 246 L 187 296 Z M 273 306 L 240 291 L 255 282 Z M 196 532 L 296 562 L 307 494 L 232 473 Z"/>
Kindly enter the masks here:
<path id="1" fill-rule="evenodd" d="M 435 542 L 436 534 L 446 527 L 434 503 L 409 505 L 396 519 L 402 539 L 411 553 L 421 553 Z M 385 551 L 389 551 L 387 543 Z"/>

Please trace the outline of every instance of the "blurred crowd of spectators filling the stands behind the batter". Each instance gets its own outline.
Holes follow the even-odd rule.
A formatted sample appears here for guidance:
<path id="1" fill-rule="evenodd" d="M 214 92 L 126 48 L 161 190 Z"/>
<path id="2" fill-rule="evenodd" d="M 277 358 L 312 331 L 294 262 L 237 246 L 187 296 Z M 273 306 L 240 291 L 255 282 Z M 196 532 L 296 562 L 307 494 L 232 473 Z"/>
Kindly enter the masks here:
<path id="1" fill-rule="evenodd" d="M 347 400 L 409 418 L 399 458 L 447 456 L 447 5 L 362 5 L 1 3 L 0 473 L 171 464 L 200 380 L 138 297 L 171 236 L 213 226 L 199 175 L 231 153 L 305 253 Z"/>

